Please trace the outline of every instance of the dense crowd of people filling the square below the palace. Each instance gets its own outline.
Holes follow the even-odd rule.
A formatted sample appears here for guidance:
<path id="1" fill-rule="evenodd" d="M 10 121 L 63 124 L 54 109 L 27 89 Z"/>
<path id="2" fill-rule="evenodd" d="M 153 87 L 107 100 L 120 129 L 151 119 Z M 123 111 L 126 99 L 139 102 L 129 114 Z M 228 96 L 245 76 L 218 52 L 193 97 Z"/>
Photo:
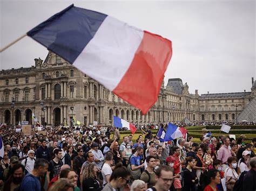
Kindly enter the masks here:
<path id="1" fill-rule="evenodd" d="M 202 129 L 200 143 L 189 132 L 160 142 L 151 128 L 139 128 L 133 142 L 138 134 L 121 138 L 115 127 L 24 136 L 2 126 L 0 190 L 256 190 L 256 138 L 246 144 L 244 135 L 211 137 Z"/>

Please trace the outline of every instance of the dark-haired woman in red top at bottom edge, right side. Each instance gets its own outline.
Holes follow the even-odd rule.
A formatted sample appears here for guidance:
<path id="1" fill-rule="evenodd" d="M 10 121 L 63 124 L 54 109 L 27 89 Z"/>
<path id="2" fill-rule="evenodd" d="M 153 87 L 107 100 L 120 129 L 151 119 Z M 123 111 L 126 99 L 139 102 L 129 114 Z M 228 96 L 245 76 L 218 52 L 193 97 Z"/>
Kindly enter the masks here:
<path id="1" fill-rule="evenodd" d="M 220 183 L 220 174 L 217 169 L 210 169 L 207 172 L 207 186 L 204 191 L 217 191 L 217 185 Z"/>

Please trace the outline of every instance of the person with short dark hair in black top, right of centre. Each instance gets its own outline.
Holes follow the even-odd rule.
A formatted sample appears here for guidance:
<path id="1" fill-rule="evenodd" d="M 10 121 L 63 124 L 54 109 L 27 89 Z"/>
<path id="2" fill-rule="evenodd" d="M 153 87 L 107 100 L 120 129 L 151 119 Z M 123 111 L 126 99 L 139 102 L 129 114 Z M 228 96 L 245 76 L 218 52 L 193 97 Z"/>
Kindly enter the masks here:
<path id="1" fill-rule="evenodd" d="M 183 180 L 184 185 L 182 190 L 184 191 L 195 191 L 196 185 L 198 183 L 198 178 L 196 175 L 196 171 L 194 171 L 194 166 L 196 166 L 196 160 L 192 157 L 186 158 L 187 167 L 183 171 Z"/>

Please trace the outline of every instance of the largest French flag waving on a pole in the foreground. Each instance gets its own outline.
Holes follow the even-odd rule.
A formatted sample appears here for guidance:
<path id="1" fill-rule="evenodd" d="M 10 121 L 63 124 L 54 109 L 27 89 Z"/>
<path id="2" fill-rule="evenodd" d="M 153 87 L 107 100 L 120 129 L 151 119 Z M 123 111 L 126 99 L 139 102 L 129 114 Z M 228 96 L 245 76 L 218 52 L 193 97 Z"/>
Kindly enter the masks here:
<path id="1" fill-rule="evenodd" d="M 172 56 L 170 40 L 73 5 L 27 35 L 143 114 L 157 101 Z"/>

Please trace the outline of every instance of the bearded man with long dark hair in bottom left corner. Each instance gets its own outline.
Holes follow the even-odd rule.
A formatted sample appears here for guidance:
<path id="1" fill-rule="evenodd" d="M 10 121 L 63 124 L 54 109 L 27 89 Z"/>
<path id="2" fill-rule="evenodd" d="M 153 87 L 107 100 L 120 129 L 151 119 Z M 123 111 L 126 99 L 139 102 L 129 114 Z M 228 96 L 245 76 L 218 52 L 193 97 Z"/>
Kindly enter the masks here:
<path id="1" fill-rule="evenodd" d="M 11 168 L 11 175 L 8 180 L 4 182 L 4 191 L 10 191 L 17 188 L 23 179 L 25 168 L 22 164 L 15 164 Z"/>

